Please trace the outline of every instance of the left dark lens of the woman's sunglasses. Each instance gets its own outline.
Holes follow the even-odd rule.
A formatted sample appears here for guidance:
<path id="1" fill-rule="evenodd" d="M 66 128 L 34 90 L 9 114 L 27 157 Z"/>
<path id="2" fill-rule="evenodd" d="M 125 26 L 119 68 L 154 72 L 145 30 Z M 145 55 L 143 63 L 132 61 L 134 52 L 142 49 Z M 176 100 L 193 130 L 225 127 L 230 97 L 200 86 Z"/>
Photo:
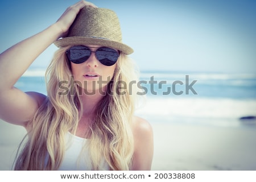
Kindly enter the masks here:
<path id="1" fill-rule="evenodd" d="M 85 46 L 73 46 L 68 49 L 67 57 L 72 63 L 84 63 L 90 57 L 90 49 Z"/>

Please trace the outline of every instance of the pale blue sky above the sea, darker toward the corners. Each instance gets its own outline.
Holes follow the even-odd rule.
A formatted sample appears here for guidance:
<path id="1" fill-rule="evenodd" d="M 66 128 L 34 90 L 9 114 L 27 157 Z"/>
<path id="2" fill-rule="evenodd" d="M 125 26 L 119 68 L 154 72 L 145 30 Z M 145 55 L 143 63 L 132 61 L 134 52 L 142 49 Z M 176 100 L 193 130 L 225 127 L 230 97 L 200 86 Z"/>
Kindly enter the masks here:
<path id="1" fill-rule="evenodd" d="M 52 23 L 78 0 L 1 1 L 0 52 Z M 92 0 L 112 9 L 141 71 L 256 73 L 254 0 Z M 52 44 L 31 65 L 46 68 Z"/>

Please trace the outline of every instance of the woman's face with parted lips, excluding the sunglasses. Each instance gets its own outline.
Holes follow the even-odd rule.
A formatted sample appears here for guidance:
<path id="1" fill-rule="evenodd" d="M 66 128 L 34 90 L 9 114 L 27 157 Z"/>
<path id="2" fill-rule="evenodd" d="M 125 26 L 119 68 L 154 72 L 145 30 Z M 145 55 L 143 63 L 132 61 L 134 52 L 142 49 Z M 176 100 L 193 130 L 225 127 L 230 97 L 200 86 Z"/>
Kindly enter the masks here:
<path id="1" fill-rule="evenodd" d="M 81 64 L 71 62 L 71 69 L 74 81 L 84 89 L 86 94 L 95 94 L 98 90 L 104 94 L 110 80 L 114 76 L 117 63 L 106 66 L 97 60 L 95 51 L 102 46 L 86 45 L 93 51 L 88 60 Z"/>

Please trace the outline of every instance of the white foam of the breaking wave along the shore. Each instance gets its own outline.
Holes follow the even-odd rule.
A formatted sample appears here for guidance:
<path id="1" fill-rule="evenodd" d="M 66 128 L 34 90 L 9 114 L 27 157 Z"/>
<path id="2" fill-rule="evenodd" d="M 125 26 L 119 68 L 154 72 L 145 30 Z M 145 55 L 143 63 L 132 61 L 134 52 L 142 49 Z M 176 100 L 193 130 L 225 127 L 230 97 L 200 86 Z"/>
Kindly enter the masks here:
<path id="1" fill-rule="evenodd" d="M 256 115 L 256 100 L 229 98 L 148 97 L 137 110 L 138 115 L 155 121 L 231 121 L 246 115 Z"/>

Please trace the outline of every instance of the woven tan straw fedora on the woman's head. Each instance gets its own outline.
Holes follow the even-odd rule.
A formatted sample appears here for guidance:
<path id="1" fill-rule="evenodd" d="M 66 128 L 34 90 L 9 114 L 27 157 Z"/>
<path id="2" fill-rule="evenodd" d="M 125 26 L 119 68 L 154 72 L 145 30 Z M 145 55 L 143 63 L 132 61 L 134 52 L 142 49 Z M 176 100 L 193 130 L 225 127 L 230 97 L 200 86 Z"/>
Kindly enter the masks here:
<path id="1" fill-rule="evenodd" d="M 118 49 L 129 55 L 133 49 L 122 43 L 117 15 L 112 10 L 85 6 L 69 28 L 68 36 L 56 40 L 57 47 L 92 44 Z"/>

